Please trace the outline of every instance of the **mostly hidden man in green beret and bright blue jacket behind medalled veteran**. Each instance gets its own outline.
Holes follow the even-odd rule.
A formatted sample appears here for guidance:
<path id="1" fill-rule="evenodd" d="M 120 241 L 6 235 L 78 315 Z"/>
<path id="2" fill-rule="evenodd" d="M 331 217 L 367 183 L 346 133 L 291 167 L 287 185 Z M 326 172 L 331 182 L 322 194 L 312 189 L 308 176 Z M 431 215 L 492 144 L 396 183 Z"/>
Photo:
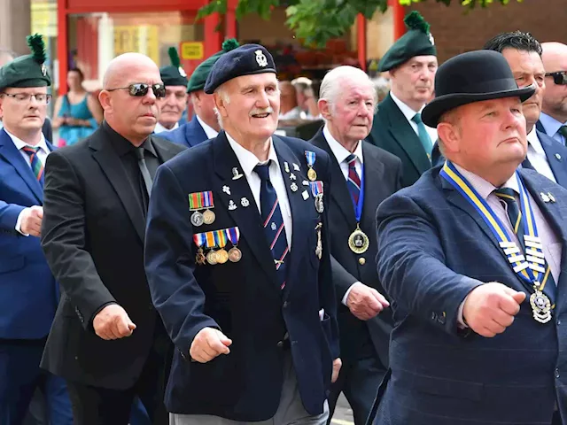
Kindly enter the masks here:
<path id="1" fill-rule="evenodd" d="M 198 143 L 205 142 L 207 139 L 212 139 L 219 134 L 221 127 L 214 114 L 213 95 L 207 95 L 205 93 L 205 81 L 216 61 L 221 58 L 224 53 L 236 49 L 237 47 L 238 42 L 231 38 L 222 43 L 222 50 L 217 51 L 213 56 L 207 58 L 195 68 L 187 84 L 187 93 L 190 95 L 190 101 L 193 105 L 193 118 L 173 131 L 160 133 L 159 137 L 163 137 L 174 143 L 183 144 L 190 148 Z"/>

